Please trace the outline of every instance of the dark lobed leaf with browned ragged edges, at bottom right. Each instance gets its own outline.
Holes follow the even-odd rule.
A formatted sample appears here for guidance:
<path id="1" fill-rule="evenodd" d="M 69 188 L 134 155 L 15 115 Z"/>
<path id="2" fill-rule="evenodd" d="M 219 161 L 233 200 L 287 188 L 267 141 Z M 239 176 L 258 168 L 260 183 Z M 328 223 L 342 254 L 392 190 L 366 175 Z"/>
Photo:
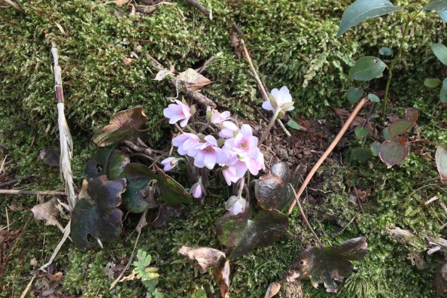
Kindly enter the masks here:
<path id="1" fill-rule="evenodd" d="M 351 274 L 351 261 L 361 260 L 368 253 L 365 237 L 344 241 L 335 246 L 310 247 L 301 252 L 287 273 L 287 281 L 310 280 L 312 286 L 323 283 L 326 292 L 337 293 L 335 281 L 342 282 Z"/>

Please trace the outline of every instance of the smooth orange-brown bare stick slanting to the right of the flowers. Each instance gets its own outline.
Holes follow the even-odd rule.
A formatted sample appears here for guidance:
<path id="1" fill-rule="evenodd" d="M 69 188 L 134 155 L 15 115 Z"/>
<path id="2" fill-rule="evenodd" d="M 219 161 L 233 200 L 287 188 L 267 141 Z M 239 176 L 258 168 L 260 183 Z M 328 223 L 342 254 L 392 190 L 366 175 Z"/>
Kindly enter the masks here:
<path id="1" fill-rule="evenodd" d="M 328 149 L 326 149 L 326 151 L 324 151 L 323 155 L 321 155 L 320 159 L 318 159 L 318 161 L 312 167 L 312 169 L 310 170 L 309 174 L 307 174 L 306 179 L 304 179 L 304 182 L 301 184 L 301 187 L 298 190 L 297 200 L 302 195 L 302 192 L 306 188 L 307 184 L 309 184 L 310 179 L 312 179 L 312 177 L 315 174 L 315 172 L 317 171 L 317 169 L 321 166 L 321 164 L 329 156 L 329 154 L 331 154 L 332 150 L 335 148 L 335 146 L 337 146 L 338 142 L 340 142 L 341 138 L 343 137 L 345 132 L 348 130 L 349 126 L 354 121 L 354 119 L 356 118 L 357 114 L 360 112 L 360 110 L 362 109 L 362 107 L 365 105 L 365 103 L 367 101 L 368 101 L 367 98 L 362 98 L 360 100 L 360 102 L 357 104 L 357 106 L 354 109 L 354 111 L 352 111 L 352 113 L 349 116 L 348 120 L 346 120 L 345 125 L 343 125 L 343 127 L 340 130 L 340 132 L 335 137 L 334 141 L 332 141 L 332 143 L 331 143 L 331 145 L 329 145 Z M 295 204 L 296 204 L 296 200 L 293 200 L 292 203 L 290 204 L 288 214 L 292 213 L 292 210 L 294 209 Z"/>

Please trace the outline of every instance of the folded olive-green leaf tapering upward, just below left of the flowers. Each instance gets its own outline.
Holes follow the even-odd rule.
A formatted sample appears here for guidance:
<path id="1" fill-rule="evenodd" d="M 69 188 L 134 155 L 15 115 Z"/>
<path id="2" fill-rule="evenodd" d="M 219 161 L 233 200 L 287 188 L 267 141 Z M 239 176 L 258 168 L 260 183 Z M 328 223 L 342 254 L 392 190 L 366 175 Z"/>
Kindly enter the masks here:
<path id="1" fill-rule="evenodd" d="M 156 164 L 153 164 L 158 177 L 157 186 L 160 189 L 161 200 L 169 206 L 191 204 L 192 196 L 188 191 L 170 176 L 166 175 Z"/>

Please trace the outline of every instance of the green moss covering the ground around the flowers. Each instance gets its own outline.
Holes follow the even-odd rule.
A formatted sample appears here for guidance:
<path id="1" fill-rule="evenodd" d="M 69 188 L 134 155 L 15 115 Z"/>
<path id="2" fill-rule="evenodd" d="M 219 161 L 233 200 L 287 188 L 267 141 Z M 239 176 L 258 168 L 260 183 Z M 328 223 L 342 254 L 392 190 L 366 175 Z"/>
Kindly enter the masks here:
<path id="1" fill-rule="evenodd" d="M 350 1 L 200 2 L 212 8 L 212 20 L 184 1 L 175 3 L 185 19 L 177 7 L 163 4 L 150 15 L 131 15 L 124 6 L 84 0 L 22 1 L 26 14 L 0 8 L 0 149 L 1 159 L 7 154 L 6 160 L 11 160 L 2 180 L 33 174 L 31 184 L 19 182 L 15 187 L 34 190 L 63 187 L 58 168 L 37 159 L 42 148 L 58 144 L 51 42 L 60 48 L 67 116 L 74 136 L 73 172 L 79 184 L 84 164 L 96 149 L 90 141 L 92 133 L 105 125 L 113 113 L 142 105 L 150 125 L 162 117 L 166 97 L 175 96 L 175 90 L 164 81 L 152 79 L 147 54 L 167 68 L 172 65 L 182 71 L 222 53 L 209 65 L 205 75 L 213 83 L 202 92 L 220 109 L 258 118 L 253 110 L 260 100 L 255 80 L 248 64 L 243 59 L 238 63 L 230 45 L 232 23 L 236 22 L 244 31 L 243 38 L 256 67 L 265 75 L 267 86 L 287 85 L 291 89 L 296 101 L 292 116 L 326 119 L 326 128 L 336 133 L 339 120 L 330 107 L 350 109 L 345 95 L 354 83 L 347 76 L 349 66 L 363 55 L 377 55 L 381 46 L 396 51 L 402 29 L 400 16 L 395 13 L 365 22 L 336 39 L 341 15 Z M 393 2 L 413 9 L 422 1 Z M 441 76 L 441 66 L 429 45 L 446 44 L 446 32 L 446 23 L 432 12 L 423 12 L 416 19 L 394 75 L 388 111 L 402 116 L 407 107 L 418 109 L 418 125 L 425 137 L 435 143 L 447 141 L 446 112 L 437 105 L 436 92 L 427 90 L 422 82 L 426 76 Z M 130 57 L 132 51 L 140 59 L 134 59 L 129 66 L 123 59 Z M 325 57 L 322 67 L 312 71 L 321 55 Z M 383 83 L 379 79 L 372 88 L 383 90 Z M 305 133 L 294 134 L 304 134 L 301 138 L 306 138 Z M 151 131 L 149 145 L 166 146 L 164 135 L 169 135 L 166 125 Z M 313 194 L 317 200 L 306 201 L 304 209 L 325 245 L 365 235 L 370 252 L 365 260 L 355 264 L 354 273 L 338 294 L 326 293 L 321 285 L 314 289 L 305 281 L 301 284 L 302 295 L 436 297 L 431 280 L 441 256 L 425 254 L 426 268 L 420 271 L 407 260 L 407 254 L 417 249 L 397 243 L 386 232 L 387 227 L 396 224 L 415 232 L 420 243 L 426 234 L 443 235 L 441 226 L 446 219 L 440 203 L 447 205 L 446 193 L 439 185 L 433 185 L 439 183 L 434 161 L 427 161 L 413 150 L 403 164 L 391 169 L 386 169 L 378 159 L 359 164 L 351 157 L 351 149 L 359 146 L 358 142 L 350 134 L 346 146 L 334 154 L 340 155 L 343 163 L 338 157 L 330 159 L 319 170 L 315 184 L 310 185 L 320 190 Z M 428 155 L 434 157 L 433 153 Z M 344 232 L 331 237 L 359 211 L 349 200 L 353 187 L 371 189 L 371 196 L 363 202 L 356 220 Z M 433 196 L 439 199 L 424 205 Z M 5 208 L 13 204 L 15 211 L 8 209 L 9 229 L 17 232 L 7 243 L 9 250 L 4 251 L 9 262 L 2 268 L 0 297 L 19 297 L 32 276 L 30 260 L 35 257 L 39 265 L 43 264 L 61 237 L 56 227 L 45 227 L 32 219 L 23 228 L 32 216 L 29 209 L 36 202 L 35 196 L 0 196 L 0 224 L 6 222 Z M 177 250 L 182 245 L 223 249 L 214 230 L 216 219 L 224 212 L 223 205 L 224 198 L 209 198 L 205 205 L 192 206 L 187 215 L 171 220 L 163 228 L 143 230 L 137 247 L 152 252 L 158 261 L 162 276 L 159 287 L 167 297 L 186 297 L 202 288 L 209 297 L 219 297 L 211 274 L 201 275 L 177 255 Z M 231 297 L 263 297 L 268 285 L 282 280 L 298 253 L 313 243 L 297 210 L 290 219 L 287 234 L 275 245 L 258 248 L 231 262 Z M 104 250 L 82 252 L 68 242 L 62 247 L 54 266 L 64 273 L 61 287 L 67 296 L 144 295 L 144 287 L 138 281 L 119 283 L 109 292 L 112 280 L 105 274 L 109 261 L 119 263 L 130 256 L 136 235 L 129 235 L 137 221 L 138 217 L 128 218 L 121 237 L 107 243 Z M 281 297 L 286 297 L 286 288 L 283 287 Z M 37 296 L 33 289 L 30 297 Z M 300 296 L 297 293 L 292 297 Z"/>

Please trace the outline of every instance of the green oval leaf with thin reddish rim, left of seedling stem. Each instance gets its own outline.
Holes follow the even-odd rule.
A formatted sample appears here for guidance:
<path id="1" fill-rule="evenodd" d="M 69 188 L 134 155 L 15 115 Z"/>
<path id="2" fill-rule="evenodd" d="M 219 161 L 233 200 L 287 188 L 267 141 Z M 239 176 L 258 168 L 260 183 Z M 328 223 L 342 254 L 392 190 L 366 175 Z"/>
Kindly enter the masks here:
<path id="1" fill-rule="evenodd" d="M 349 77 L 356 80 L 372 80 L 383 73 L 385 68 L 385 63 L 377 57 L 362 57 L 349 70 Z"/>

